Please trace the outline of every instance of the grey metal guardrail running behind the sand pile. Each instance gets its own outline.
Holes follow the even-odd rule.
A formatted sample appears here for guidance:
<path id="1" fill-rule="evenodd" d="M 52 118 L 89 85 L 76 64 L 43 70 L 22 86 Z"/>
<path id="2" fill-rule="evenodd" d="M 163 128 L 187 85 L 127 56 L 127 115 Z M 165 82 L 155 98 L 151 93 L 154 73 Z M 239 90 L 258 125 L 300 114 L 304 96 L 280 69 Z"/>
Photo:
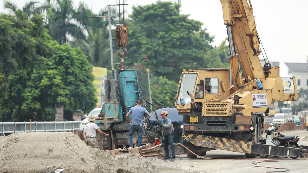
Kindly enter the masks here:
<path id="1" fill-rule="evenodd" d="M 78 131 L 81 121 L 33 121 L 32 132 Z M 0 122 L 0 136 L 6 133 L 30 132 L 30 122 Z"/>

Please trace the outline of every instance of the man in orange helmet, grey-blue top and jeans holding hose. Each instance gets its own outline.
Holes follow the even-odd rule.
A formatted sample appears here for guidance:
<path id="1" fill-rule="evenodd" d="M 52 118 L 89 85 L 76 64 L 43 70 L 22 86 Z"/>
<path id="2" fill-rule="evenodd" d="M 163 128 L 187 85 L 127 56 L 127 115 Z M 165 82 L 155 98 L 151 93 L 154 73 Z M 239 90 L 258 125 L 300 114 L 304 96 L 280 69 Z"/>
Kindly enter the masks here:
<path id="1" fill-rule="evenodd" d="M 171 151 L 172 151 L 172 159 L 175 159 L 175 147 L 173 144 L 173 133 L 174 133 L 174 128 L 172 125 L 172 122 L 170 119 L 168 119 L 168 112 L 167 111 L 162 111 L 160 114 L 161 118 L 164 120 L 162 123 L 159 123 L 159 126 L 163 128 L 165 140 L 164 140 L 164 149 L 166 156 L 163 160 L 169 160 L 169 148 L 168 146 L 170 145 Z"/>

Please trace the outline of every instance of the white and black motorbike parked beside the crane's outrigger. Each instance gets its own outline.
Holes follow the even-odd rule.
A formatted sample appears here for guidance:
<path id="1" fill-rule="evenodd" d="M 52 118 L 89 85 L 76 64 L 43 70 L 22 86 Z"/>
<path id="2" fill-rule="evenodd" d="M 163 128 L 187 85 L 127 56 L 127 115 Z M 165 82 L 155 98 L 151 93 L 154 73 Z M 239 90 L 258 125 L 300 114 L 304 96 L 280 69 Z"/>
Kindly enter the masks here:
<path id="1" fill-rule="evenodd" d="M 269 127 L 264 132 L 266 133 L 265 138 L 262 138 L 259 143 L 263 143 L 266 145 L 276 145 L 276 146 L 283 146 L 283 147 L 293 147 L 293 148 L 303 148 L 301 147 L 301 143 L 299 142 L 299 137 L 296 135 L 291 136 L 285 136 L 283 134 L 280 134 L 277 132 L 278 128 L 273 126 L 273 123 L 271 123 L 272 127 Z M 261 158 L 267 158 L 269 155 L 259 155 Z M 291 159 L 297 159 L 299 156 L 289 156 Z M 287 158 L 287 157 L 285 157 Z"/>

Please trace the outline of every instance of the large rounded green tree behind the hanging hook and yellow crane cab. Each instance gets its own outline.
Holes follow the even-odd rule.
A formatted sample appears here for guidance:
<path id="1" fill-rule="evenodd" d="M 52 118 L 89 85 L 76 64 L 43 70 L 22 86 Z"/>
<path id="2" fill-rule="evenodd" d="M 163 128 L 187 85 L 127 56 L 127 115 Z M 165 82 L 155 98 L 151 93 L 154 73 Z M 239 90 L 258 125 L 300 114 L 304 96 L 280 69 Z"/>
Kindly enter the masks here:
<path id="1" fill-rule="evenodd" d="M 173 81 L 179 80 L 174 74 L 180 74 L 183 67 L 195 68 L 194 62 L 203 61 L 200 67 L 211 68 L 204 60 L 207 52 L 213 50 L 210 43 L 214 37 L 202 29 L 201 22 L 179 14 L 179 8 L 180 5 L 172 2 L 133 7 L 132 20 L 128 22 L 126 64 L 132 66 L 136 59 L 147 56 L 149 61 L 145 65 L 155 75 Z"/>

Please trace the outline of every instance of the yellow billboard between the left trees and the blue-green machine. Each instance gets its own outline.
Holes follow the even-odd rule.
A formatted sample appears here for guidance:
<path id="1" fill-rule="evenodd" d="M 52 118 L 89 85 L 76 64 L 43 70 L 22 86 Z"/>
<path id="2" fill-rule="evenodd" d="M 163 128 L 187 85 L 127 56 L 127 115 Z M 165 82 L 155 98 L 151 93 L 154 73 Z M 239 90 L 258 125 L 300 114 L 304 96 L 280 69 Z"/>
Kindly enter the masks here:
<path id="1" fill-rule="evenodd" d="M 92 67 L 92 74 L 94 75 L 93 84 L 96 88 L 95 96 L 97 98 L 97 107 L 103 107 L 105 99 L 104 80 L 107 79 L 107 68 Z"/>

